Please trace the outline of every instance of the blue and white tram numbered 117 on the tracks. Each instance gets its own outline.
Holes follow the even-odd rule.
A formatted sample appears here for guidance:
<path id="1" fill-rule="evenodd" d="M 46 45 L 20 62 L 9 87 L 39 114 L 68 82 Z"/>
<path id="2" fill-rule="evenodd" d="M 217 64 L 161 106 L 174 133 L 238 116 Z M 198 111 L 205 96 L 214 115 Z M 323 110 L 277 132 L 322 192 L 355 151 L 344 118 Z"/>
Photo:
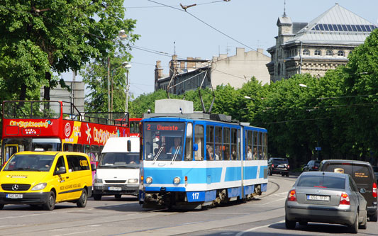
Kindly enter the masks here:
<path id="1" fill-rule="evenodd" d="M 142 120 L 143 208 L 201 208 L 267 191 L 267 130 L 205 113 Z"/>

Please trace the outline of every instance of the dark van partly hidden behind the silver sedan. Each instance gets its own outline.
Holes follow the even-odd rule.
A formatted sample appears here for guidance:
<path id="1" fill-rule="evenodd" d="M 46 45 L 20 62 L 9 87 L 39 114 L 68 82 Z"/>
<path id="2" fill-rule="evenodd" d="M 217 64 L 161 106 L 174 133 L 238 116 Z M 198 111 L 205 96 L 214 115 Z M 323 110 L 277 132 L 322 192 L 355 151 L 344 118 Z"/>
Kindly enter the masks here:
<path id="1" fill-rule="evenodd" d="M 367 216 L 369 220 L 377 222 L 377 181 L 372 165 L 369 162 L 350 159 L 325 159 L 319 165 L 319 171 L 350 174 L 358 189 L 365 189 L 365 193 L 362 193 L 362 196 L 367 201 Z"/>

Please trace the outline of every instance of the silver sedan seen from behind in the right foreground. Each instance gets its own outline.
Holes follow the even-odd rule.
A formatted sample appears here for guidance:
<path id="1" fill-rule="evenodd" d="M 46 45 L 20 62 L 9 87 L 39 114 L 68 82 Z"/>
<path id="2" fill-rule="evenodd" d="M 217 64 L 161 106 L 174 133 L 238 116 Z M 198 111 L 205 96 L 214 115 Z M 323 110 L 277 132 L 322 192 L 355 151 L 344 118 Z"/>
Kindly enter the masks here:
<path id="1" fill-rule="evenodd" d="M 367 202 L 360 192 L 349 174 L 304 172 L 285 201 L 285 225 L 294 229 L 296 222 L 341 224 L 357 233 L 359 227 L 367 228 Z"/>

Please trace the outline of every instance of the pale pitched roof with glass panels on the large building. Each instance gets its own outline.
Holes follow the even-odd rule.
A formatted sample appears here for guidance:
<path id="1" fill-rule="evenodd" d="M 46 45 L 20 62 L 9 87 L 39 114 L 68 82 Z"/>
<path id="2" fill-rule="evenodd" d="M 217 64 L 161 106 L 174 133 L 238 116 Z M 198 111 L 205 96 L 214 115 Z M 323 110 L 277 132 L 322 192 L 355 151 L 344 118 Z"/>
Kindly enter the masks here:
<path id="1" fill-rule="evenodd" d="M 335 4 L 299 30 L 294 38 L 287 40 L 285 44 L 302 42 L 360 45 L 375 28 L 378 26 Z"/>

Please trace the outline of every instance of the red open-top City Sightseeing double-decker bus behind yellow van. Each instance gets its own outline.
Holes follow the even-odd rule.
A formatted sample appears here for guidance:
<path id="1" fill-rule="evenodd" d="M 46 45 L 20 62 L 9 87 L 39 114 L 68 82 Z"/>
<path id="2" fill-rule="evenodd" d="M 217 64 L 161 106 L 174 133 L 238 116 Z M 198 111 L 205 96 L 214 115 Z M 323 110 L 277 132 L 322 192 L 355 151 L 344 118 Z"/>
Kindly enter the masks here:
<path id="1" fill-rule="evenodd" d="M 97 162 L 109 137 L 139 136 L 139 120 L 128 113 L 83 114 L 65 101 L 4 101 L 1 164 L 31 150 L 85 152 Z"/>

